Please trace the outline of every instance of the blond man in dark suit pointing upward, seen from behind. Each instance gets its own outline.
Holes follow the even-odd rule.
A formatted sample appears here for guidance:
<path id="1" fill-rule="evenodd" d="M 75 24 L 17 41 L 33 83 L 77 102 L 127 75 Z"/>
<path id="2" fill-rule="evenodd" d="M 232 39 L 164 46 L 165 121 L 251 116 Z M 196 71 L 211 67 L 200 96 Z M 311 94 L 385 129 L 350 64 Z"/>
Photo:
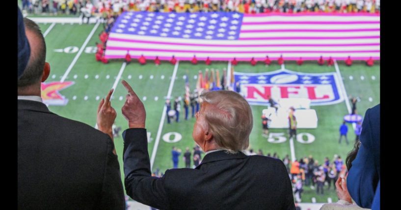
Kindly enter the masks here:
<path id="1" fill-rule="evenodd" d="M 130 85 L 122 108 L 129 129 L 124 138 L 125 189 L 134 200 L 163 209 L 295 210 L 284 163 L 246 156 L 253 126 L 247 101 L 232 91 L 203 93 L 192 137 L 206 152 L 195 169 L 167 170 L 152 177 L 145 129 L 145 108 Z"/>

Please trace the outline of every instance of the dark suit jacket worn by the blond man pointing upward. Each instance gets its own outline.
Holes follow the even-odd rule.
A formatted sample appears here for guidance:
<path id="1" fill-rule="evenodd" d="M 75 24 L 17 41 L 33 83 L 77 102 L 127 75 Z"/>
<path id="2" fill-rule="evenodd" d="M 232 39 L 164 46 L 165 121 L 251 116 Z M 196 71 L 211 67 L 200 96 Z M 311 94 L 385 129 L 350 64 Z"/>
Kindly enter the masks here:
<path id="1" fill-rule="evenodd" d="M 134 200 L 180 210 L 294 210 L 287 169 L 265 156 L 207 154 L 195 169 L 167 170 L 151 177 L 145 129 L 124 131 L 125 189 Z"/>

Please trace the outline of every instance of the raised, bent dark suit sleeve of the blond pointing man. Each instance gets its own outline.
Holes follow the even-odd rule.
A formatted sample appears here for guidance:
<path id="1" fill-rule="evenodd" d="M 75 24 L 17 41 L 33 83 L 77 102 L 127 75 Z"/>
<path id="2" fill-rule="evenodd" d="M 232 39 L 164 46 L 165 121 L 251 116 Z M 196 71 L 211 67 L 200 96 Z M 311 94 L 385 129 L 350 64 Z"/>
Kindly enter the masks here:
<path id="1" fill-rule="evenodd" d="M 168 209 L 165 176 L 158 178 L 151 175 L 146 129 L 127 129 L 123 133 L 123 139 L 127 194 L 142 204 L 157 209 Z"/>

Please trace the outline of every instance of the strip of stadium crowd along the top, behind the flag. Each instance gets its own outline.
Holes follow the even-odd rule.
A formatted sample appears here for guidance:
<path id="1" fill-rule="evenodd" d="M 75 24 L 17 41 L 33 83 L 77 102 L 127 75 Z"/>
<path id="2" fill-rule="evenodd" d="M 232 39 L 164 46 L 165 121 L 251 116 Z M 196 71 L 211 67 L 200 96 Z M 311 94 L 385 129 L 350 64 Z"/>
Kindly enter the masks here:
<path id="1" fill-rule="evenodd" d="M 89 13 L 94 17 L 118 15 L 123 11 L 241 13 L 379 13 L 380 0 L 22 0 L 28 13 Z"/>

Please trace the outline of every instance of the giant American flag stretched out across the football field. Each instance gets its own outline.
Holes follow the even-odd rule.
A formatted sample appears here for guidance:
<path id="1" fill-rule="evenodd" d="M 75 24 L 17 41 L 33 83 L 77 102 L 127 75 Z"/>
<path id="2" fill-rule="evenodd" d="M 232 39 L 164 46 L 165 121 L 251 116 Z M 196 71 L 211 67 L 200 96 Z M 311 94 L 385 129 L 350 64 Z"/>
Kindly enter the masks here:
<path id="1" fill-rule="evenodd" d="M 111 29 L 107 58 L 249 61 L 380 59 L 377 14 L 258 14 L 124 12 Z"/>

